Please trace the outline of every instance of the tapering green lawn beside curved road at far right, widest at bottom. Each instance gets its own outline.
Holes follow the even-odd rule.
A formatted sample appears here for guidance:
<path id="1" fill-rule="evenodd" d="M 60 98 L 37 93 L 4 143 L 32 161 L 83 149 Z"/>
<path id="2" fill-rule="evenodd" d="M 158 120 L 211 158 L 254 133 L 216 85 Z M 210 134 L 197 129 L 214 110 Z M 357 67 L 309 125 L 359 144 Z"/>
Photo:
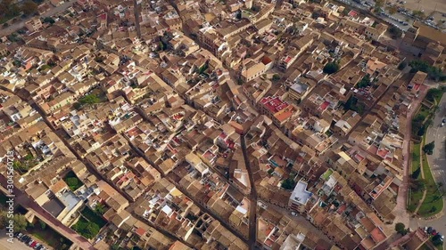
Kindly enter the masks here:
<path id="1" fill-rule="evenodd" d="M 423 140 L 425 143 L 425 139 Z M 424 154 L 423 158 L 423 172 L 425 173 L 425 188 L 426 196 L 423 204 L 418 210 L 418 214 L 423 217 L 429 217 L 434 214 L 442 212 L 443 200 L 439 197 L 437 184 L 434 180 L 434 175 L 431 172 L 431 168 L 427 162 L 427 156 Z"/>

